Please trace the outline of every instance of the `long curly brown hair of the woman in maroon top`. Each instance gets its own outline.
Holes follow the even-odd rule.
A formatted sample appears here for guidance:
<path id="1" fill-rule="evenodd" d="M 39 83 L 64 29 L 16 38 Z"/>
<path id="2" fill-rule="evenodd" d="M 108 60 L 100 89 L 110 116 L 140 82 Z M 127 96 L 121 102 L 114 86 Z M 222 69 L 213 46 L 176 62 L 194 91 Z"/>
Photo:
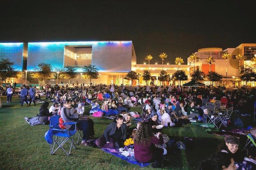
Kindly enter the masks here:
<path id="1" fill-rule="evenodd" d="M 139 129 L 134 136 L 134 143 L 147 145 L 153 136 L 152 126 L 148 122 L 141 122 Z"/>

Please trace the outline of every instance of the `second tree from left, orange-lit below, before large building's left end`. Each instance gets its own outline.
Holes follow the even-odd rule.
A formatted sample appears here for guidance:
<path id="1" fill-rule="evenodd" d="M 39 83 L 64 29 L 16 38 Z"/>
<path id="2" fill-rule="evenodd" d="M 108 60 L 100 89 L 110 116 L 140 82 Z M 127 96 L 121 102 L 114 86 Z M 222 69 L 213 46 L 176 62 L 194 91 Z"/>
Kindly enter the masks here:
<path id="1" fill-rule="evenodd" d="M 52 73 L 51 64 L 47 63 L 39 63 L 37 67 L 35 67 L 37 72 L 32 73 L 32 77 L 42 80 L 43 85 L 45 85 L 45 80 L 50 80 L 54 78 L 54 73 Z"/>

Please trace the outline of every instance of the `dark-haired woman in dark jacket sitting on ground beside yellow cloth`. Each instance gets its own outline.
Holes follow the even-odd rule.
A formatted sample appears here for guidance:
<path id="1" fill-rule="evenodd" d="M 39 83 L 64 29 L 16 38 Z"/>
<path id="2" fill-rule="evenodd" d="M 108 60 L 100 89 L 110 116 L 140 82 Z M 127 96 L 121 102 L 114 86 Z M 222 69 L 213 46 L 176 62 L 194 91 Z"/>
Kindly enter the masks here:
<path id="1" fill-rule="evenodd" d="M 124 147 L 127 125 L 123 124 L 123 116 L 117 115 L 104 131 L 104 134 L 96 140 L 96 145 L 102 148 Z"/>

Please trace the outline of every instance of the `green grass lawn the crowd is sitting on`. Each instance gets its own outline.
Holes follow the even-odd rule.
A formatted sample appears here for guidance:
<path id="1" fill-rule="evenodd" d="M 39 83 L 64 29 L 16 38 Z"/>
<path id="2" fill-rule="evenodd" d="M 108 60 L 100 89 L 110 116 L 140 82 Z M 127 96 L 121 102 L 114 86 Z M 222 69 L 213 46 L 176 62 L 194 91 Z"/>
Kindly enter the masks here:
<path id="1" fill-rule="evenodd" d="M 0 108 L 0 169 L 139 169 L 126 161 L 103 152 L 98 148 L 76 145 L 67 156 L 61 150 L 50 154 L 50 145 L 44 140 L 48 125 L 30 126 L 23 118 L 34 117 L 39 113 L 41 104 L 37 106 L 20 106 L 17 97 L 12 103 L 6 103 L 6 97 L 1 97 Z M 44 97 L 42 99 L 45 99 Z M 90 106 L 87 106 L 89 111 Z M 131 111 L 140 112 L 134 107 Z M 99 137 L 106 126 L 112 121 L 106 118 L 92 118 L 96 137 Z M 136 126 L 133 123 L 133 126 Z M 168 169 L 196 169 L 199 161 L 208 157 L 222 142 L 223 137 L 205 132 L 207 128 L 185 125 L 182 128 L 165 128 L 164 133 L 170 138 L 184 141 L 191 137 L 195 141 L 192 150 L 180 150 L 170 156 Z M 145 169 L 151 169 L 151 166 Z"/>

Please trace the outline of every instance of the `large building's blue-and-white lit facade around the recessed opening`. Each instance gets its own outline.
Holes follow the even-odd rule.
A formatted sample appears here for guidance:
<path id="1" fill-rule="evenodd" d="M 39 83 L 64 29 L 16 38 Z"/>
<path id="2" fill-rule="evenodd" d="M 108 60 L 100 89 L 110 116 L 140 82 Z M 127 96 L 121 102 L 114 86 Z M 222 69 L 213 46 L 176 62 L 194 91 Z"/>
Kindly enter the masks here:
<path id="1" fill-rule="evenodd" d="M 27 69 L 41 62 L 49 63 L 53 68 L 63 68 L 64 47 L 91 45 L 92 64 L 100 72 L 131 71 L 132 41 L 76 41 L 76 42 L 41 42 L 28 43 Z M 78 68 L 77 71 L 82 71 Z"/>

